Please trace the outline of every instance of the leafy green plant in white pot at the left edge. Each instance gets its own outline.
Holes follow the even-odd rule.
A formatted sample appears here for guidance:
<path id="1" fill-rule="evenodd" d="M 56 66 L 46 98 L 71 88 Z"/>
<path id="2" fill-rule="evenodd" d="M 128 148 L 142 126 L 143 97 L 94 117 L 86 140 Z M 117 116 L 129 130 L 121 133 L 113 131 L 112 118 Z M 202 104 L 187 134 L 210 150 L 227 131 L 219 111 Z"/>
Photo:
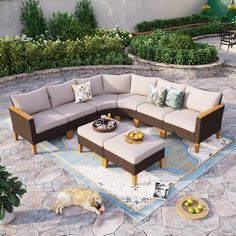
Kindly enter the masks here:
<path id="1" fill-rule="evenodd" d="M 20 205 L 24 193 L 26 190 L 18 177 L 12 177 L 6 167 L 0 165 L 0 224 L 8 224 L 14 219 L 14 207 Z"/>

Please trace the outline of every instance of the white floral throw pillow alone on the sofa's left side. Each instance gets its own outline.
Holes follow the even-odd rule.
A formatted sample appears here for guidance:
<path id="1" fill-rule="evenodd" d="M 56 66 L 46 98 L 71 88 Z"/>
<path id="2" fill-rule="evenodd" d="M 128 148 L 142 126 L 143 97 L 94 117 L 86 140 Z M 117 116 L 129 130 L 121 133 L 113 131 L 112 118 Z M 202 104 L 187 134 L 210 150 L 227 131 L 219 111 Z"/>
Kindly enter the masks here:
<path id="1" fill-rule="evenodd" d="M 90 81 L 84 84 L 72 85 L 72 88 L 75 93 L 75 103 L 86 102 L 93 98 Z"/>

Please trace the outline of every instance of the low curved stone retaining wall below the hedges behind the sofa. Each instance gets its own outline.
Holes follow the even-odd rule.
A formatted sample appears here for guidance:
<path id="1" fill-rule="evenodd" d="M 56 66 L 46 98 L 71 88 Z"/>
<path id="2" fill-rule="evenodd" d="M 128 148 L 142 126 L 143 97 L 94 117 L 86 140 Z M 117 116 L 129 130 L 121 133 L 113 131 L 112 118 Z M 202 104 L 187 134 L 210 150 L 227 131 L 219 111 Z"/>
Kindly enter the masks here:
<path id="1" fill-rule="evenodd" d="M 157 76 L 169 80 L 183 78 L 207 78 L 222 75 L 223 62 L 200 66 L 182 66 L 156 63 L 137 58 L 131 54 L 129 57 L 135 65 L 109 65 L 109 66 L 81 66 L 49 69 L 34 73 L 24 73 L 0 78 L 0 88 L 15 83 L 26 83 L 33 80 L 67 81 L 72 78 L 89 77 L 97 74 L 124 74 L 136 73 L 146 76 Z"/>

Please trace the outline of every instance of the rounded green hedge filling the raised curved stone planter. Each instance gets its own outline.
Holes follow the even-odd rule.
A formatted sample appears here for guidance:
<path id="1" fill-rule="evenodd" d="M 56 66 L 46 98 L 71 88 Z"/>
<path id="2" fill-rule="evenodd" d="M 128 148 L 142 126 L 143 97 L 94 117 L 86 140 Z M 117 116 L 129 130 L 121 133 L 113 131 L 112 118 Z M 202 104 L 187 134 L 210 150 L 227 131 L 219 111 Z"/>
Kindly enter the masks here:
<path id="1" fill-rule="evenodd" d="M 164 31 L 135 37 L 130 52 L 147 60 L 179 65 L 208 64 L 217 59 L 214 46 L 194 43 L 189 35 Z"/>

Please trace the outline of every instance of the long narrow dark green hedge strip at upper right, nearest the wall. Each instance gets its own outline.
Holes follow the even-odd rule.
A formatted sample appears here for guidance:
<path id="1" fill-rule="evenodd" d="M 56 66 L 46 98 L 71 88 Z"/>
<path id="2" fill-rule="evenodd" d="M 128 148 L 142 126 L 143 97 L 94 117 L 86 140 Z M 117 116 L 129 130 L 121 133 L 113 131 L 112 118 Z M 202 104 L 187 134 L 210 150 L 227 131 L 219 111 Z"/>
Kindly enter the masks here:
<path id="1" fill-rule="evenodd" d="M 221 21 L 225 21 L 225 18 L 210 17 L 210 16 L 204 16 L 201 14 L 195 14 L 192 16 L 172 18 L 172 19 L 158 19 L 154 21 L 143 21 L 136 25 L 135 30 L 137 32 L 146 32 L 146 31 L 152 31 L 155 29 L 164 29 L 164 28 L 177 27 L 177 26 L 188 25 L 188 24 L 208 23 L 208 22 L 213 22 L 213 21 L 221 22 Z"/>

